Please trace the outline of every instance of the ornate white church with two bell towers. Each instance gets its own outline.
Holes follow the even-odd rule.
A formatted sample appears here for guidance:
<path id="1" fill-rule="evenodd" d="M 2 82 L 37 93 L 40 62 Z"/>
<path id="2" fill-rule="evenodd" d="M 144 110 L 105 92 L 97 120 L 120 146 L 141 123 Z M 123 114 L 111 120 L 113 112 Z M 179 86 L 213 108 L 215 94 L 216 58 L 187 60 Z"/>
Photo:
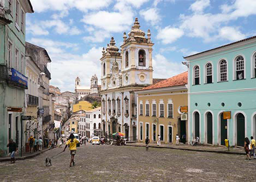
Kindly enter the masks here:
<path id="1" fill-rule="evenodd" d="M 137 138 L 136 96 L 134 90 L 153 83 L 152 46 L 150 30 L 140 29 L 138 18 L 132 30 L 123 34 L 121 52 L 112 37 L 102 58 L 102 124 L 104 135 L 124 132 L 130 140 Z"/>

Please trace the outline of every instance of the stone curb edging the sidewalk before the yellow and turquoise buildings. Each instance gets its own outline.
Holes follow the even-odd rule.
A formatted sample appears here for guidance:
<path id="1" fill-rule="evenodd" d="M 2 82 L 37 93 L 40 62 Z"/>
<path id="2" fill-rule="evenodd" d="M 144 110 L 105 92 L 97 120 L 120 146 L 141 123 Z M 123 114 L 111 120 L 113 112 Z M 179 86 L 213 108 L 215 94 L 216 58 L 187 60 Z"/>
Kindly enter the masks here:
<path id="1" fill-rule="evenodd" d="M 145 147 L 142 145 L 133 145 L 133 144 L 126 144 L 130 147 Z M 175 150 L 188 150 L 188 151 L 201 151 L 201 152 L 209 152 L 209 153 L 218 153 L 218 154 L 233 154 L 233 155 L 246 155 L 245 153 L 240 153 L 236 151 L 218 151 L 218 150 L 200 150 L 200 149 L 182 149 L 182 148 L 174 148 L 174 147 L 159 147 L 159 146 L 152 146 L 149 145 L 148 147 L 151 148 L 164 148 L 164 149 L 175 149 Z"/>

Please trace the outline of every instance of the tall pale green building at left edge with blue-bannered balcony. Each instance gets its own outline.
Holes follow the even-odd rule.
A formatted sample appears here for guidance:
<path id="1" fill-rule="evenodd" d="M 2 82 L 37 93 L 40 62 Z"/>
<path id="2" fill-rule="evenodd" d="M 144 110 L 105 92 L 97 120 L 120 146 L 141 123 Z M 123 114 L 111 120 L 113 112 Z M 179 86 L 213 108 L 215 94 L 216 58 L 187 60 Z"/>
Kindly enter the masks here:
<path id="1" fill-rule="evenodd" d="M 8 154 L 10 138 L 19 151 L 23 141 L 22 115 L 28 88 L 25 60 L 26 13 L 33 13 L 29 0 L 0 1 L 0 156 Z"/>

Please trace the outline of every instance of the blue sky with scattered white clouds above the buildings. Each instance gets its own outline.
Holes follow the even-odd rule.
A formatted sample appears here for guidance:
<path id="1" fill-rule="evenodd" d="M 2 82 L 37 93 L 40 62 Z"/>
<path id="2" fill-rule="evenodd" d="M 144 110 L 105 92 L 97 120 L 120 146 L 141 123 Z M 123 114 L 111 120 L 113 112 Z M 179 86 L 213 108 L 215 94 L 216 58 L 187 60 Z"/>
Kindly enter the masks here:
<path id="1" fill-rule="evenodd" d="M 183 71 L 183 56 L 256 35 L 256 0 L 31 0 L 26 41 L 44 47 L 52 86 L 74 92 L 75 78 L 100 84 L 102 48 L 114 37 L 120 48 L 138 17 L 151 30 L 153 78 Z"/>

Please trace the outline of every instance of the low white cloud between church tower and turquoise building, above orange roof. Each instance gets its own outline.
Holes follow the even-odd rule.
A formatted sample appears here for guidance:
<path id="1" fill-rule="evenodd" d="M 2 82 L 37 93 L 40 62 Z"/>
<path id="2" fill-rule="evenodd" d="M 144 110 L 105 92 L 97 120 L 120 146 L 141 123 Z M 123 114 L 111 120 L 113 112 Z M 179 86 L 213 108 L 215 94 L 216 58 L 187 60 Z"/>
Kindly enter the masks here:
<path id="1" fill-rule="evenodd" d="M 187 71 L 187 67 L 181 64 L 181 62 L 168 60 L 162 54 L 156 54 L 153 57 L 153 68 L 153 78 L 170 78 L 171 76 Z"/>

